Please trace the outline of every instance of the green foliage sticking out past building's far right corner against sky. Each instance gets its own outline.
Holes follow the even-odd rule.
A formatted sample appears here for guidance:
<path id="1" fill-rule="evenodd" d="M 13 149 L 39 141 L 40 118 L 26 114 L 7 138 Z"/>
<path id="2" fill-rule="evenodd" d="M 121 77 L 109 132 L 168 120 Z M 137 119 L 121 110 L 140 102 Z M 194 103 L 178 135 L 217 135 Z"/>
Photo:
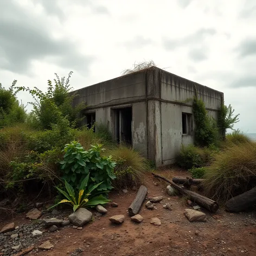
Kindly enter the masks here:
<path id="1" fill-rule="evenodd" d="M 223 103 L 221 104 L 218 125 L 223 136 L 225 135 L 227 129 L 234 130 L 234 124 L 239 122 L 238 116 L 239 114 L 234 116 L 234 110 L 232 109 L 231 105 L 226 106 Z"/>

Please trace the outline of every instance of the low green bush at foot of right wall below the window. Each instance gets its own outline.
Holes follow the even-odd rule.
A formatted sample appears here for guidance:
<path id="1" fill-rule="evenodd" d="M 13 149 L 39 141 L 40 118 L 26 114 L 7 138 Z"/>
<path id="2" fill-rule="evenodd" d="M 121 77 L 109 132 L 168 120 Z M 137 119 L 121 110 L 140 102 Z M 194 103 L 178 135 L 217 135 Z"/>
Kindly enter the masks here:
<path id="1" fill-rule="evenodd" d="M 199 148 L 194 145 L 182 145 L 180 155 L 177 157 L 177 164 L 187 170 L 199 168 L 212 163 L 219 150 L 210 145 L 209 148 Z"/>

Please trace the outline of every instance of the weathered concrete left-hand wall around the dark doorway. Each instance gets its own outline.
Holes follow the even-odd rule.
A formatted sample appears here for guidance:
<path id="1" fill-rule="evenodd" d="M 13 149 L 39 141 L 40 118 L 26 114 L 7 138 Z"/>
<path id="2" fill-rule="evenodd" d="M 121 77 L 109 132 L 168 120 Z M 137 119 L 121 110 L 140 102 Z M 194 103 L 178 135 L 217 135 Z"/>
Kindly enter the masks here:
<path id="1" fill-rule="evenodd" d="M 140 72 L 79 89 L 75 91 L 78 96 L 74 99 L 73 105 L 86 103 L 88 107 L 84 114 L 95 112 L 95 121 L 105 124 L 112 134 L 112 110 L 132 107 L 132 144 L 148 157 L 145 78 L 145 73 Z"/>

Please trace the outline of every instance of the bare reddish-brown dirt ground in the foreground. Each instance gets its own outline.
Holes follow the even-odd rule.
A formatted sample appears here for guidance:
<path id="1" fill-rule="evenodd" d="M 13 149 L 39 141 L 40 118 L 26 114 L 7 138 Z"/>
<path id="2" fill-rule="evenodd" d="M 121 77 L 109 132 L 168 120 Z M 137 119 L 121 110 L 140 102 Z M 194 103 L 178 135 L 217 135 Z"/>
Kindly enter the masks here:
<path id="1" fill-rule="evenodd" d="M 159 174 L 170 179 L 186 176 L 186 172 L 174 170 L 159 171 Z M 44 240 L 54 244 L 52 251 L 39 250 L 28 255 L 72 255 L 79 247 L 84 251 L 73 255 L 256 255 L 255 212 L 230 214 L 220 209 L 216 214 L 211 214 L 203 210 L 207 214 L 207 222 L 190 223 L 183 214 L 184 209 L 189 208 L 185 200 L 168 196 L 165 193 L 167 183 L 155 185 L 156 181 L 156 178 L 148 175 L 145 182 L 148 196 L 163 195 L 164 199 L 153 210 L 146 209 L 144 202 L 139 212 L 143 216 L 142 223 L 132 222 L 126 213 L 136 191 L 110 194 L 110 199 L 118 203 L 117 208 L 107 206 L 106 215 L 99 218 L 94 215 L 94 221 L 82 230 L 68 226 L 49 233 Z M 164 209 L 163 203 L 171 203 L 173 209 Z M 114 225 L 108 218 L 118 214 L 124 214 L 125 221 L 121 225 Z M 162 225 L 150 224 L 152 217 L 158 217 Z M 29 220 L 24 220 L 24 214 L 20 214 L 15 217 L 15 223 L 18 225 L 19 222 Z"/>

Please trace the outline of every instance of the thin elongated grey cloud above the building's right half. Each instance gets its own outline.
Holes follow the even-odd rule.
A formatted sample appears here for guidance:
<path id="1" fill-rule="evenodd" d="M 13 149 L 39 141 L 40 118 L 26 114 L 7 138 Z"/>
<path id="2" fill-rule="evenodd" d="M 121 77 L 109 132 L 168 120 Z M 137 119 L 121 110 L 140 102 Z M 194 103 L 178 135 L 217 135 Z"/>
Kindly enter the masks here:
<path id="1" fill-rule="evenodd" d="M 185 36 L 181 39 L 163 39 L 163 45 L 165 49 L 172 50 L 177 47 L 202 42 L 204 39 L 206 39 L 207 36 L 212 36 L 215 34 L 216 30 L 213 28 L 202 28 L 197 30 L 194 34 Z"/>

